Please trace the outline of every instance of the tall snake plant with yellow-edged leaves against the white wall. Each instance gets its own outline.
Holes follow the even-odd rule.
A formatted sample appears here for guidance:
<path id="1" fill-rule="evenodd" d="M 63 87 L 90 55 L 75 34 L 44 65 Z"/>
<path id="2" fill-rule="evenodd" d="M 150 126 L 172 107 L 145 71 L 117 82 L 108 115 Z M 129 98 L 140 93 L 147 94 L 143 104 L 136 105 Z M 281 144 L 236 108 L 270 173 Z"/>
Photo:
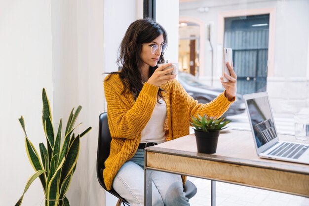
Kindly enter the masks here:
<path id="1" fill-rule="evenodd" d="M 61 146 L 61 134 L 63 129 L 62 119 L 60 118 L 59 127 L 55 133 L 49 100 L 44 88 L 42 91 L 42 102 L 42 124 L 46 146 L 43 143 L 39 144 L 40 154 L 28 138 L 23 116 L 19 119 L 26 136 L 25 144 L 27 155 L 30 164 L 36 172 L 28 179 L 24 192 L 15 206 L 21 205 L 26 191 L 37 177 L 39 177 L 43 187 L 45 206 L 70 206 L 69 200 L 66 197 L 66 192 L 69 189 L 72 175 L 77 164 L 79 138 L 84 136 L 91 127 L 88 127 L 81 134 L 76 135 L 73 132 L 76 128 L 74 125 L 81 110 L 81 106 L 78 106 L 75 112 L 73 108 L 65 128 L 64 141 Z"/>

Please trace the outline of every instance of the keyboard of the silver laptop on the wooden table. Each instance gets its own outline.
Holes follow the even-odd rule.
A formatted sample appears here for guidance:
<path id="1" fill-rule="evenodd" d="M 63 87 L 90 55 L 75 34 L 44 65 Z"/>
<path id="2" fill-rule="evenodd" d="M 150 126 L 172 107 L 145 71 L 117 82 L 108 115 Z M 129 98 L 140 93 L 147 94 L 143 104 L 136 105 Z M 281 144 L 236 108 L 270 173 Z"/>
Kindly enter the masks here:
<path id="1" fill-rule="evenodd" d="M 268 155 L 298 159 L 308 148 L 304 144 L 283 142 L 276 149 L 270 151 Z"/>

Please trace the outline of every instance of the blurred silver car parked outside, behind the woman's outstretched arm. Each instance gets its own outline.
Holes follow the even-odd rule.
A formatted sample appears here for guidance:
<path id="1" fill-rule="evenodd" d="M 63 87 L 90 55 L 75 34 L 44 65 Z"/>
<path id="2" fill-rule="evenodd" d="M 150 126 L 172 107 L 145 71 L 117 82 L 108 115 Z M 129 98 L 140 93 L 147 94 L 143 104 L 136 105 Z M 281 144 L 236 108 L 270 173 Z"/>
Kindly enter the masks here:
<path id="1" fill-rule="evenodd" d="M 179 72 L 178 81 L 198 103 L 208 103 L 224 91 L 224 88 L 214 88 L 201 83 L 193 75 Z M 238 115 L 245 111 L 246 106 L 242 95 L 236 94 L 236 101 L 230 106 L 224 116 Z"/>

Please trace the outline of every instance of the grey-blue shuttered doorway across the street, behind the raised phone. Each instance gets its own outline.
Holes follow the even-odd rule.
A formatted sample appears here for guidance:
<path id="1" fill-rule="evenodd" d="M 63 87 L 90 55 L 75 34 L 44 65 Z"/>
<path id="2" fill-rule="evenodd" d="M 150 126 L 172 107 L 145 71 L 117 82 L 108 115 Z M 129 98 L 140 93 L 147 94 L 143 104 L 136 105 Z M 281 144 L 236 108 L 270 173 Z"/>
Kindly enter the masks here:
<path id="1" fill-rule="evenodd" d="M 233 49 L 240 94 L 266 91 L 270 15 L 225 18 L 224 47 Z"/>

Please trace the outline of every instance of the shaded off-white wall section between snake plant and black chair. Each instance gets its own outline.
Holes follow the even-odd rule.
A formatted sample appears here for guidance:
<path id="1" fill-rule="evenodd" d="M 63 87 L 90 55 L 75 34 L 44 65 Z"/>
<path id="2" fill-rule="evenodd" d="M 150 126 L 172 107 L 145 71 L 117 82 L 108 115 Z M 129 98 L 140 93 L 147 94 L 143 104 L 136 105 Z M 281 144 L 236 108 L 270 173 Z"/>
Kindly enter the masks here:
<path id="1" fill-rule="evenodd" d="M 104 110 L 104 16 L 101 0 L 53 0 L 51 4 L 54 121 L 81 105 L 81 139 L 77 169 L 67 197 L 72 206 L 104 204 L 96 176 L 98 117 Z M 58 124 L 56 124 L 58 125 Z M 78 131 L 78 130 L 77 130 Z"/>

